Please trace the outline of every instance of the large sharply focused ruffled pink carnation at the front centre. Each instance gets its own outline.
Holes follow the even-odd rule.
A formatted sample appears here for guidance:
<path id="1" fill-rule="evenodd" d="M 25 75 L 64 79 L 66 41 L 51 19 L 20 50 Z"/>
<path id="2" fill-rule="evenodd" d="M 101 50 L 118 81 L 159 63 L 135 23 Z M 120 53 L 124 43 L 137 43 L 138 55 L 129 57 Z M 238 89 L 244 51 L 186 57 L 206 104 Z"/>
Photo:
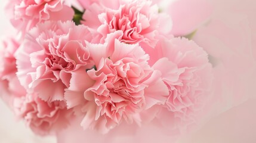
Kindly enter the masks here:
<path id="1" fill-rule="evenodd" d="M 150 68 L 149 55 L 138 44 L 121 43 L 122 34 L 109 35 L 104 44 L 88 44 L 95 67 L 72 73 L 65 99 L 84 116 L 84 129 L 106 133 L 122 120 L 140 124 L 140 111 L 166 101 L 161 73 Z"/>

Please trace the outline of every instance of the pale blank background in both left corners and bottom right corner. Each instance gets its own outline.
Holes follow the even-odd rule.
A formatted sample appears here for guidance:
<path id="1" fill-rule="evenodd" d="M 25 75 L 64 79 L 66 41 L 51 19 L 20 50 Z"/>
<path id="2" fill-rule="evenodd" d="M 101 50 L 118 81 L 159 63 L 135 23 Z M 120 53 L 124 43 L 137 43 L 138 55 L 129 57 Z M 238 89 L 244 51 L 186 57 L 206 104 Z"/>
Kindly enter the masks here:
<path id="1" fill-rule="evenodd" d="M 252 0 L 254 1 L 254 0 Z M 4 15 L 4 5 L 0 5 L 0 37 L 11 33 L 10 23 Z M 255 143 L 256 142 L 256 99 L 224 111 L 205 123 L 192 135 L 183 136 L 178 143 Z M 57 142 L 54 137 L 34 135 L 23 122 L 18 122 L 11 110 L 0 100 L 0 142 L 1 143 L 40 143 Z M 159 142 L 161 143 L 161 142 Z"/>

